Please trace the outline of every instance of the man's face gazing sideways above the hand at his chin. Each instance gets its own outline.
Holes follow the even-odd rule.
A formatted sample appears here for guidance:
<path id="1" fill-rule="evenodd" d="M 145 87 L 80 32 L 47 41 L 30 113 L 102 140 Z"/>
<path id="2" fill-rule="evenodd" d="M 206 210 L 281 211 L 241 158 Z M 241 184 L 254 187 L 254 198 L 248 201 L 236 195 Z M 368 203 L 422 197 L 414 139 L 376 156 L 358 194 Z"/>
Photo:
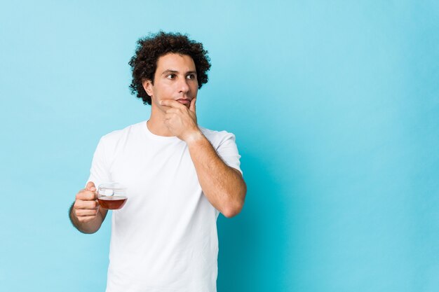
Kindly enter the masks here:
<path id="1" fill-rule="evenodd" d="M 198 80 L 194 60 L 188 55 L 169 53 L 157 60 L 154 85 L 144 81 L 144 89 L 152 99 L 152 107 L 166 111 L 161 106 L 163 99 L 174 99 L 189 108 L 191 100 L 196 98 Z"/>

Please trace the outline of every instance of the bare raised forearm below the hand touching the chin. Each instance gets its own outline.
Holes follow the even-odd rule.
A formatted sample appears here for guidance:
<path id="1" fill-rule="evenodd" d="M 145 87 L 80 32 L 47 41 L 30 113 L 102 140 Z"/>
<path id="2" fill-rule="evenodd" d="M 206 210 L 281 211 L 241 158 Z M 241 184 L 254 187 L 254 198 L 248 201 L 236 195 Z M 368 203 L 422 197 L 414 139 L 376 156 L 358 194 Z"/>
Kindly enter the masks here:
<path id="1" fill-rule="evenodd" d="M 241 173 L 226 165 L 201 132 L 187 141 L 198 181 L 209 202 L 224 216 L 238 214 L 247 188 Z"/>

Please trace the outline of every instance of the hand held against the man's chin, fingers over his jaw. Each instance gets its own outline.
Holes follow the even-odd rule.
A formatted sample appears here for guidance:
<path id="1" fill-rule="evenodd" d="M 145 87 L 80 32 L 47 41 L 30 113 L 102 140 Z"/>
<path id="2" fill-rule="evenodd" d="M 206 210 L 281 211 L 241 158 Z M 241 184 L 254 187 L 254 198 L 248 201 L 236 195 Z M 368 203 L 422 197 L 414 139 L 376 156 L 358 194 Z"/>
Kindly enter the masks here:
<path id="1" fill-rule="evenodd" d="M 168 106 L 165 115 L 165 125 L 179 139 L 189 142 L 201 137 L 201 131 L 196 123 L 196 98 L 191 100 L 189 109 L 174 99 L 162 99 L 160 104 Z"/>

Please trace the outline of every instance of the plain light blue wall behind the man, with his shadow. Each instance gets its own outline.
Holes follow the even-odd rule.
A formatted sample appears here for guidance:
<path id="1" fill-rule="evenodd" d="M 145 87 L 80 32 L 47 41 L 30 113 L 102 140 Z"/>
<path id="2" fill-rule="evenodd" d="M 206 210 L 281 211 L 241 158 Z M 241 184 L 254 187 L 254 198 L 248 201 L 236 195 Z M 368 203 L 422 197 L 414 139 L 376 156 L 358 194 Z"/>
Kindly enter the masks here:
<path id="1" fill-rule="evenodd" d="M 104 291 L 110 221 L 67 211 L 149 117 L 128 60 L 159 29 L 208 49 L 198 121 L 242 155 L 219 292 L 439 290 L 438 1 L 89 2 L 0 4 L 1 291 Z"/>

